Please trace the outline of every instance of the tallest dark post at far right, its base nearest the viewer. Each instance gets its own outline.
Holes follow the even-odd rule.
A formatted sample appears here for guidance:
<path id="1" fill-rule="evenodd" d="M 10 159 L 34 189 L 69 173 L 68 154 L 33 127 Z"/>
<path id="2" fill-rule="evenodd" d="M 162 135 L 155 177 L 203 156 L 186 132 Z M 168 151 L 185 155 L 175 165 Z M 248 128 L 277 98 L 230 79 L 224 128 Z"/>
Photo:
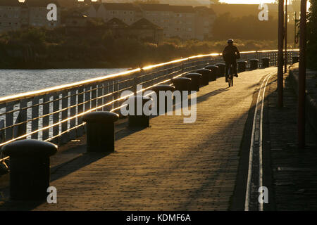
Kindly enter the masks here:
<path id="1" fill-rule="evenodd" d="M 301 1 L 299 36 L 299 79 L 298 79 L 298 143 L 305 147 L 305 97 L 306 97 L 306 7 L 307 0 Z"/>

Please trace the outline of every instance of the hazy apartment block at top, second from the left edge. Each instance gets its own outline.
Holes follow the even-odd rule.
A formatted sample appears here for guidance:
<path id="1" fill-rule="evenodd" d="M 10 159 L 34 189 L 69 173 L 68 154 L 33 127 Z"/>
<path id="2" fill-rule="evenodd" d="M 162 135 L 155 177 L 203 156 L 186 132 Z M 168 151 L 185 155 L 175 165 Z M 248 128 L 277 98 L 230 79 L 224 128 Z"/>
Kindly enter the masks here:
<path id="1" fill-rule="evenodd" d="M 61 7 L 59 7 L 56 0 L 25 0 L 28 8 L 28 25 L 30 27 L 58 27 L 61 25 Z M 47 6 L 49 4 L 56 4 L 57 6 L 57 20 L 47 20 Z"/>

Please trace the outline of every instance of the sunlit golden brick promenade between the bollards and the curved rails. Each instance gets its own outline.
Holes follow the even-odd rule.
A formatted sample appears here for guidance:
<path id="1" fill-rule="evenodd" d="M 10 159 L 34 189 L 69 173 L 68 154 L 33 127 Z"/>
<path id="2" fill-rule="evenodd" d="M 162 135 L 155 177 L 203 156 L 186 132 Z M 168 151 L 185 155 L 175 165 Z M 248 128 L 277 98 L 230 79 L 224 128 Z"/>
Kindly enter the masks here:
<path id="1" fill-rule="evenodd" d="M 151 127 L 122 129 L 116 153 L 81 154 L 54 169 L 58 203 L 0 203 L 0 210 L 228 210 L 240 145 L 254 92 L 276 68 L 240 73 L 228 88 L 218 78 L 197 93 L 197 121 L 151 118 Z"/>

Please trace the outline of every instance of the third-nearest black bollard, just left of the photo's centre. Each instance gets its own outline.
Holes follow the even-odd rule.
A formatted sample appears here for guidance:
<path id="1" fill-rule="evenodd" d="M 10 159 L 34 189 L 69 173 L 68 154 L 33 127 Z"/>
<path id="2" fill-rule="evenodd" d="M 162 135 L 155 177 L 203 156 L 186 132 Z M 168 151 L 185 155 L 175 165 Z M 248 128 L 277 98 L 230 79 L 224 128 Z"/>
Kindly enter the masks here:
<path id="1" fill-rule="evenodd" d="M 134 115 L 129 114 L 129 127 L 149 127 L 149 115 L 144 114 L 143 107 L 145 103 L 152 101 L 151 98 L 146 96 L 132 96 L 129 100 L 129 108 L 130 104 L 134 104 L 135 108 Z M 140 112 L 137 112 L 138 104 L 142 104 L 139 105 L 139 107 L 142 106 L 142 111 Z M 139 110 L 141 110 L 141 108 Z"/>

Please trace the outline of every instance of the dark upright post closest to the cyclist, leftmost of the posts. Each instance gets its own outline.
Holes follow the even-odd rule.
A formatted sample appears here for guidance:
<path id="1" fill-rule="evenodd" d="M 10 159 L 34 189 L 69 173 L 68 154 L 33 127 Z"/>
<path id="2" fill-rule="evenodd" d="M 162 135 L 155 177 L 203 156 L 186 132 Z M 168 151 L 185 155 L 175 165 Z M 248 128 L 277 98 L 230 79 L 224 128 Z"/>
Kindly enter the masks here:
<path id="1" fill-rule="evenodd" d="M 278 1 L 278 107 L 283 106 L 284 0 Z"/>

